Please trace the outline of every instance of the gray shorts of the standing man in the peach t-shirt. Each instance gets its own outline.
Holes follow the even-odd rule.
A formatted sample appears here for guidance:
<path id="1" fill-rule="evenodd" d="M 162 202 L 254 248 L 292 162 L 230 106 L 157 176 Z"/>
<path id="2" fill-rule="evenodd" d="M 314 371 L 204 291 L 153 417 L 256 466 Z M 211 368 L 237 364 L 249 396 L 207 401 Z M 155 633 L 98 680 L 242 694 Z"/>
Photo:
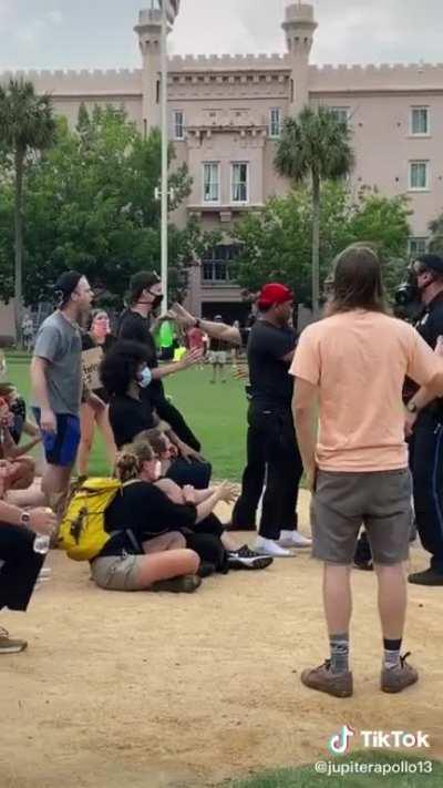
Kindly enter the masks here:
<path id="1" fill-rule="evenodd" d="M 350 565 L 361 525 L 375 564 L 393 566 L 409 557 L 411 474 L 395 471 L 319 471 L 312 495 L 312 557 Z"/>

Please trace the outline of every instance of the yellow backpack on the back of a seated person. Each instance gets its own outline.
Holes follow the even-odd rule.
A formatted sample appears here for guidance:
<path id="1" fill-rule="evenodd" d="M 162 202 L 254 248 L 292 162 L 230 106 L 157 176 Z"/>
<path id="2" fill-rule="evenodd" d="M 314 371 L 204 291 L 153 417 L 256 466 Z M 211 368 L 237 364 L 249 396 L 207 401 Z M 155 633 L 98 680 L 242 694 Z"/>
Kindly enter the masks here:
<path id="1" fill-rule="evenodd" d="M 71 497 L 60 525 L 58 546 L 73 561 L 92 561 L 113 535 L 104 514 L 123 485 L 117 479 L 86 479 Z"/>

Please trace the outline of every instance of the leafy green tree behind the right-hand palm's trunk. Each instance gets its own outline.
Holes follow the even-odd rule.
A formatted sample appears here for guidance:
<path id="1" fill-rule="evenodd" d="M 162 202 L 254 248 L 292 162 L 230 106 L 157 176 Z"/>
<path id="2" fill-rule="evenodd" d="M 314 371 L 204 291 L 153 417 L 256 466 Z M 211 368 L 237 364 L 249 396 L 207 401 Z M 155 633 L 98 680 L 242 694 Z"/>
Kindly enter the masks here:
<path id="1" fill-rule="evenodd" d="M 370 242 L 382 257 L 390 293 L 404 274 L 410 236 L 408 199 L 383 197 L 371 188 L 357 197 L 343 183 L 322 187 L 320 217 L 320 282 L 330 274 L 336 255 L 348 244 Z M 260 213 L 249 214 L 234 232 L 239 245 L 235 274 L 238 284 L 256 291 L 264 282 L 282 280 L 300 303 L 311 307 L 312 194 L 309 186 L 272 197 Z"/>

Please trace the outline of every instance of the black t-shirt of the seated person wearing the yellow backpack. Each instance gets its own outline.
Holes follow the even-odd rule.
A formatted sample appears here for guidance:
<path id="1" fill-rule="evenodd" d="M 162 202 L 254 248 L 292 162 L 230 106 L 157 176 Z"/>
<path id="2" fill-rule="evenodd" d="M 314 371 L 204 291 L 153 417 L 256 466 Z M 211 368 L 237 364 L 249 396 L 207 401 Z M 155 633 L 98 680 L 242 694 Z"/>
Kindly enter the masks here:
<path id="1" fill-rule="evenodd" d="M 196 519 L 197 510 L 193 504 L 173 503 L 155 484 L 135 481 L 124 487 L 106 510 L 105 531 L 117 533 L 105 544 L 100 556 L 120 555 L 123 550 L 141 554 L 142 542 L 169 531 L 193 529 Z"/>

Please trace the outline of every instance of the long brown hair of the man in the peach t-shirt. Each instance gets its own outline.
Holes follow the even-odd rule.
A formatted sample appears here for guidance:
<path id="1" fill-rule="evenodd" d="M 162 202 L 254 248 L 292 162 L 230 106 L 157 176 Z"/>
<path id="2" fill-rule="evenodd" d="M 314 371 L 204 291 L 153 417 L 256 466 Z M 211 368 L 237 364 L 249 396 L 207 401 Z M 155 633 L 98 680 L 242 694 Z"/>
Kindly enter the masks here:
<path id="1" fill-rule="evenodd" d="M 388 313 L 380 257 L 371 244 L 352 244 L 334 260 L 332 296 L 324 315 L 352 309 Z"/>

